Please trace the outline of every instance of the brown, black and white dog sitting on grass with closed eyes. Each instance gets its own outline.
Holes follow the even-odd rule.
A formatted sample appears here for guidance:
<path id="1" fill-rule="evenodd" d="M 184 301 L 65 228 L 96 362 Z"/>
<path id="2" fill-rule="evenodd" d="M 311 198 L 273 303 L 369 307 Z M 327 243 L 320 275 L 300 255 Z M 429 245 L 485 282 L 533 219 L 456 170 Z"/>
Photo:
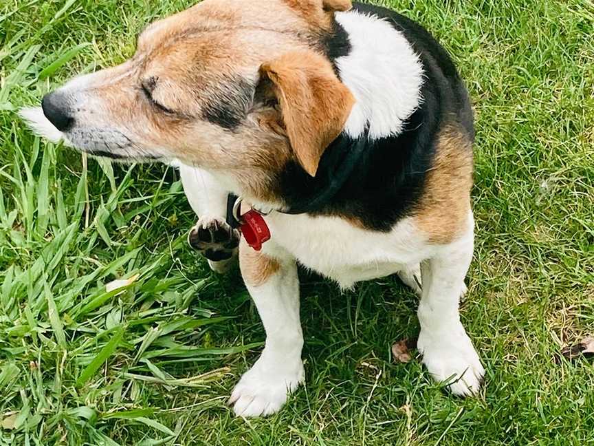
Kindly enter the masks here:
<path id="1" fill-rule="evenodd" d="M 199 215 L 190 242 L 214 270 L 239 251 L 266 332 L 230 397 L 238 416 L 277 412 L 304 380 L 298 264 L 345 289 L 397 273 L 420 296 L 428 372 L 479 392 L 459 317 L 474 118 L 417 23 L 350 0 L 204 0 L 22 115 L 93 156 L 177 160 Z"/>

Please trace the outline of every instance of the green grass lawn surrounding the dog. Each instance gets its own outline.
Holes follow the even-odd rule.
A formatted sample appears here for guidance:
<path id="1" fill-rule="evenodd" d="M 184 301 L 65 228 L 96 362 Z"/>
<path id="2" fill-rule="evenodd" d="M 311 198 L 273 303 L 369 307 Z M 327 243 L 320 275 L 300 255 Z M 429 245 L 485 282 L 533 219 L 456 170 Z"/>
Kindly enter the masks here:
<path id="1" fill-rule="evenodd" d="M 558 352 L 594 331 L 594 3 L 382 2 L 441 39 L 476 105 L 462 317 L 486 387 L 457 399 L 391 361 L 418 331 L 397 279 L 303 275 L 307 384 L 250 421 L 225 398 L 263 328 L 186 246 L 175 172 L 81 159 L 15 113 L 190 3 L 0 3 L 0 445 L 593 445 L 592 363 Z"/>

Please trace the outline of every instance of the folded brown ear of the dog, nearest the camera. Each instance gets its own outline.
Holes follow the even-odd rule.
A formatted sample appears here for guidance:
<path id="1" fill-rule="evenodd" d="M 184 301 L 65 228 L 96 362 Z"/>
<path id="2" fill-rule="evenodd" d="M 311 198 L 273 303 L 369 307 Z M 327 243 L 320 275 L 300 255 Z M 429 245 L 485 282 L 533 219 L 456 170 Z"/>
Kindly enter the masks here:
<path id="1" fill-rule="evenodd" d="M 316 176 L 326 147 L 340 134 L 355 98 L 331 63 L 315 52 L 287 53 L 260 69 L 260 87 L 278 101 L 281 113 L 267 127 L 289 138 L 303 169 Z"/>

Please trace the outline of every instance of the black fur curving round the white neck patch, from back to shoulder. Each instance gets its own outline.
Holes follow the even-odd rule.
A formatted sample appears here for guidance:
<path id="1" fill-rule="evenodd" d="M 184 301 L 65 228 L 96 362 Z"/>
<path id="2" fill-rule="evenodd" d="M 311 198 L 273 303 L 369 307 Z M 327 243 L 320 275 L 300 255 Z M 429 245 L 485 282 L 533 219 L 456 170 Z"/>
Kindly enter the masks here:
<path id="1" fill-rule="evenodd" d="M 349 178 L 342 179 L 340 190 L 308 213 L 355 217 L 368 229 L 390 231 L 419 203 L 427 173 L 433 166 L 437 136 L 444 125 L 458 123 L 469 138 L 474 138 L 472 108 L 450 56 L 421 25 L 385 8 L 362 3 L 354 3 L 353 8 L 388 19 L 411 43 L 425 74 L 421 87 L 423 103 L 404 123 L 401 134 L 366 139 L 364 156 L 357 156 L 356 165 Z M 336 54 L 331 49 L 327 53 Z M 322 156 L 316 178 L 311 178 L 296 162 L 289 162 L 278 178 L 279 193 L 287 205 L 298 209 L 316 200 L 340 176 L 340 172 L 335 172 L 336 166 L 355 156 L 360 143 L 341 134 Z"/>

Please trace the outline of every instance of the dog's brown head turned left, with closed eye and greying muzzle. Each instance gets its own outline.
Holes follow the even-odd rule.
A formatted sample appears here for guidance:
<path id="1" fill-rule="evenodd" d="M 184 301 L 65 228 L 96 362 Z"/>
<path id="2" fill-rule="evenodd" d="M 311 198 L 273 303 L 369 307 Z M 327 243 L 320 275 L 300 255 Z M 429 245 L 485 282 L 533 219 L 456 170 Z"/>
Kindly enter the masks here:
<path id="1" fill-rule="evenodd" d="M 96 156 L 177 158 L 263 188 L 289 160 L 314 175 L 354 103 L 322 47 L 334 12 L 350 7 L 205 0 L 148 26 L 128 61 L 74 78 L 23 116 Z"/>

